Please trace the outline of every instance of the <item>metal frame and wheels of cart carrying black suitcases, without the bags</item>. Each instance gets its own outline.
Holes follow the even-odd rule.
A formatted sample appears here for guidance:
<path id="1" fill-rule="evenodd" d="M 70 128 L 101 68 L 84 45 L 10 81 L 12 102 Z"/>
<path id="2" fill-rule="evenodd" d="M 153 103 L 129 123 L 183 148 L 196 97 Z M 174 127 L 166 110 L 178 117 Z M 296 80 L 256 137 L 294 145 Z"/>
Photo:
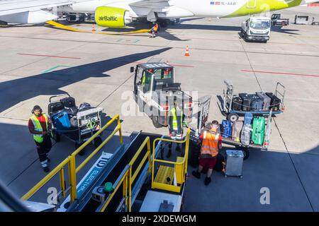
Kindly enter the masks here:
<path id="1" fill-rule="evenodd" d="M 223 115 L 226 116 L 227 119 L 232 122 L 236 121 L 239 118 L 239 116 L 243 116 L 247 112 L 250 112 L 253 115 L 265 115 L 269 114 L 269 112 L 272 112 L 272 115 L 274 115 L 281 114 L 284 112 L 284 96 L 286 93 L 286 88 L 279 82 L 276 83 L 275 95 L 272 93 L 266 93 L 267 95 L 272 96 L 270 98 L 276 98 L 278 102 L 272 103 L 267 108 L 264 108 L 263 106 L 260 111 L 247 110 L 251 107 L 246 106 L 243 103 L 236 102 L 234 97 L 238 97 L 238 95 L 234 94 L 233 85 L 230 81 L 224 81 L 224 83 L 227 86 L 227 90 L 223 90 L 223 104 L 220 109 Z M 234 104 L 240 106 L 241 109 L 234 109 Z"/>

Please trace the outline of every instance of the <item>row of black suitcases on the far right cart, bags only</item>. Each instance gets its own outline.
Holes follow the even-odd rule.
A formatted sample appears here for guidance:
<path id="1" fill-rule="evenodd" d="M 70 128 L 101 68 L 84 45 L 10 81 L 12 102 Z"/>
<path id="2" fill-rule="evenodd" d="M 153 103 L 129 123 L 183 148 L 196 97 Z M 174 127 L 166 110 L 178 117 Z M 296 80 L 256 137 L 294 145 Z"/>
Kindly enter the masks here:
<path id="1" fill-rule="evenodd" d="M 232 109 L 243 112 L 279 111 L 281 100 L 274 93 L 240 93 L 233 96 Z"/>

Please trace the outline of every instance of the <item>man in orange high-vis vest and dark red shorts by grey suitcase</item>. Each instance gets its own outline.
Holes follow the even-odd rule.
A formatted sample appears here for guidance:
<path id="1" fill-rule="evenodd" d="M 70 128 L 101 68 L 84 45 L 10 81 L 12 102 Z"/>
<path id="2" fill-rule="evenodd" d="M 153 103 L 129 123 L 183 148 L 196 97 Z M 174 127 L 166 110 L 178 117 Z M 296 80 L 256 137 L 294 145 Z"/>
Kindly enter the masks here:
<path id="1" fill-rule="evenodd" d="M 201 155 L 199 157 L 199 165 L 197 171 L 193 171 L 193 176 L 200 179 L 201 171 L 204 167 L 208 167 L 205 178 L 205 185 L 211 183 L 211 174 L 213 167 L 216 165 L 217 155 L 222 148 L 221 136 L 217 132 L 219 128 L 218 121 L 214 120 L 211 123 L 211 129 L 201 133 L 198 143 L 201 143 Z"/>

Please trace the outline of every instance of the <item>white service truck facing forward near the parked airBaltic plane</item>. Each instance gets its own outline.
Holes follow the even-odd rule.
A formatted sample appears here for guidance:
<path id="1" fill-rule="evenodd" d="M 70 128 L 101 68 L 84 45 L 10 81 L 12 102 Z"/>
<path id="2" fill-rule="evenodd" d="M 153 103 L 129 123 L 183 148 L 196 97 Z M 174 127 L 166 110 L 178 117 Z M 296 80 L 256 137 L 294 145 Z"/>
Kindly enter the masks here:
<path id="1" fill-rule="evenodd" d="M 242 22 L 241 35 L 246 41 L 267 42 L 270 37 L 271 19 L 252 16 Z"/>

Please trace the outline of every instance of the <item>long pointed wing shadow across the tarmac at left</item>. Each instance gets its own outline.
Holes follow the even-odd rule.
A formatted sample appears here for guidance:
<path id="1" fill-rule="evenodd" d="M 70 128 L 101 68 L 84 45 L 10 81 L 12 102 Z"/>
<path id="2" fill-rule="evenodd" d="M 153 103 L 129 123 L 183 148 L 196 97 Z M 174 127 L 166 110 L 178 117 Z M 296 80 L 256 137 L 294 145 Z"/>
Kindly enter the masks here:
<path id="1" fill-rule="evenodd" d="M 130 54 L 128 56 L 116 57 L 104 61 L 97 61 L 91 64 L 74 66 L 68 69 L 52 71 L 50 73 L 41 73 L 26 78 L 18 78 L 11 81 L 0 83 L 0 112 L 10 107 L 28 100 L 38 95 L 58 95 L 65 91 L 60 88 L 67 85 L 83 81 L 86 78 L 103 78 L 109 77 L 106 71 L 116 69 L 135 61 L 161 54 L 171 48 L 157 49 L 150 52 L 141 52 Z M 52 82 L 50 82 L 52 81 Z M 18 91 L 18 92 L 17 92 Z"/>

